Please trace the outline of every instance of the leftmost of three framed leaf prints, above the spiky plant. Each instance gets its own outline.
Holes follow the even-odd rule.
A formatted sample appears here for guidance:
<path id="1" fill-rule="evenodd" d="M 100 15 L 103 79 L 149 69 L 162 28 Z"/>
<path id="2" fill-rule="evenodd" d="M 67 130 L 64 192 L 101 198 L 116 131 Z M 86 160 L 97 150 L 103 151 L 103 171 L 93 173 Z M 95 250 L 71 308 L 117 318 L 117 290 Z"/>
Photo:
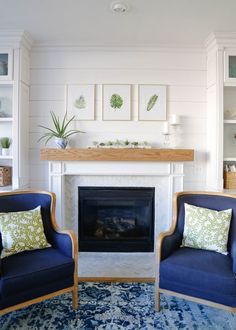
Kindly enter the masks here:
<path id="1" fill-rule="evenodd" d="M 66 111 L 74 120 L 94 120 L 95 85 L 67 85 Z"/>

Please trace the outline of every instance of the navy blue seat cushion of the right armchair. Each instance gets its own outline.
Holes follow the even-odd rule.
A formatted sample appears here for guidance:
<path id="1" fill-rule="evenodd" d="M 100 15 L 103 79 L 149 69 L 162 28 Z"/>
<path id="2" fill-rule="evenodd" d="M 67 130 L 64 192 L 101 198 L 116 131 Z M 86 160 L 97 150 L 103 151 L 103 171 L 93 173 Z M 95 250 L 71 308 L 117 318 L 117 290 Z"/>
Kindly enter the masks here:
<path id="1" fill-rule="evenodd" d="M 236 306 L 232 259 L 213 251 L 177 249 L 160 263 L 160 288 Z"/>

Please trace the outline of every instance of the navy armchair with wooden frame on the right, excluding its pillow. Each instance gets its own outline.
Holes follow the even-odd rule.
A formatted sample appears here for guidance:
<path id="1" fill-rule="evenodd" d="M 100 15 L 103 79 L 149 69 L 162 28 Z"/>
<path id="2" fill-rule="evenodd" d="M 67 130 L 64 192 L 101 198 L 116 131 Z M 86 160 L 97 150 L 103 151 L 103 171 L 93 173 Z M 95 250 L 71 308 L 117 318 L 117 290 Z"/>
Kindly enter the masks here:
<path id="1" fill-rule="evenodd" d="M 184 203 L 214 209 L 232 209 L 228 255 L 181 248 Z M 183 192 L 174 198 L 173 223 L 161 233 L 157 246 L 156 309 L 160 293 L 236 312 L 236 196 L 220 193 Z"/>

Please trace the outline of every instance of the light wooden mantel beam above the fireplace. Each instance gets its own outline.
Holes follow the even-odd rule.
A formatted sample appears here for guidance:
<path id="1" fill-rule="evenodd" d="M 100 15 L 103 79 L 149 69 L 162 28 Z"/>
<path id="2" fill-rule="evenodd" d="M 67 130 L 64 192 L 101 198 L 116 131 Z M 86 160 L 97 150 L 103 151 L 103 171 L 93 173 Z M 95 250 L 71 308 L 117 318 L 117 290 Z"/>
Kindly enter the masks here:
<path id="1" fill-rule="evenodd" d="M 41 149 L 40 158 L 48 161 L 186 162 L 194 160 L 194 150 L 156 148 L 45 148 Z"/>

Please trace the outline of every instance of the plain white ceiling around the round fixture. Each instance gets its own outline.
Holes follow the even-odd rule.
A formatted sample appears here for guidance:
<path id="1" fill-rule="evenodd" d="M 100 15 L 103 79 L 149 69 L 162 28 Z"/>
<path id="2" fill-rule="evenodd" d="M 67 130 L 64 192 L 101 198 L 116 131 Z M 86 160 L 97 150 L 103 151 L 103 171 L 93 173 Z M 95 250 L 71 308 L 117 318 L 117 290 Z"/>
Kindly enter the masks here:
<path id="1" fill-rule="evenodd" d="M 81 46 L 201 46 L 211 32 L 236 32 L 236 0 L 0 0 L 0 31 Z"/>

